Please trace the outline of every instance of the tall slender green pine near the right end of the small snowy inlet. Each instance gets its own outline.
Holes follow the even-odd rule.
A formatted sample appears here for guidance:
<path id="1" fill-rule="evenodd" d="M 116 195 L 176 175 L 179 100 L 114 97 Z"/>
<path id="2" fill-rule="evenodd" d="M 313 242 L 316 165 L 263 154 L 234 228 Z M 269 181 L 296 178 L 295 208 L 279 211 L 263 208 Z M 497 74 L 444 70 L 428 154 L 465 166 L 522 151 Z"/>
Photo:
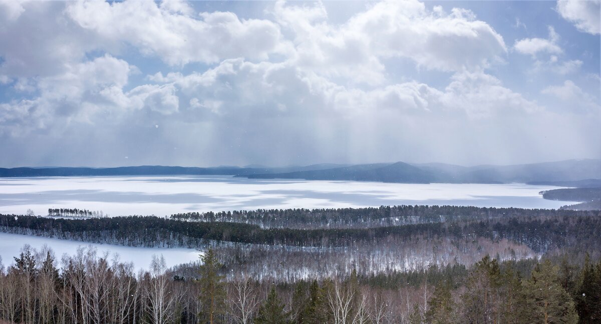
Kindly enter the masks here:
<path id="1" fill-rule="evenodd" d="M 201 323 L 222 323 L 225 313 L 225 284 L 224 277 L 219 275 L 219 264 L 217 256 L 212 248 L 201 256 L 203 265 L 200 266 L 201 294 L 198 297 L 201 311 L 198 314 Z"/>

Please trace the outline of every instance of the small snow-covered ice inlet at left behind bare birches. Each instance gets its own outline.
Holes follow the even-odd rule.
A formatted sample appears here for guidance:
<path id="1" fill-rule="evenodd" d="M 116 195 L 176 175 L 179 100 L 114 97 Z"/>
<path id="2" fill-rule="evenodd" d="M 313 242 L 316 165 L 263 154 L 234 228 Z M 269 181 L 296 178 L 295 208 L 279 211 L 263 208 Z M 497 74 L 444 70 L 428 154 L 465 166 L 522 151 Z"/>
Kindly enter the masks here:
<path id="1" fill-rule="evenodd" d="M 109 252 L 109 262 L 115 253 L 119 255 L 121 262 L 133 262 L 136 272 L 140 269 L 148 270 L 153 254 L 165 258 L 168 267 L 180 263 L 188 263 L 198 260 L 199 251 L 191 248 L 144 248 L 144 247 L 123 247 L 121 245 L 94 244 L 79 241 L 69 241 L 67 239 L 43 238 L 40 236 L 29 236 L 20 234 L 10 234 L 0 232 L 0 257 L 4 266 L 14 263 L 13 257 L 19 256 L 23 245 L 29 244 L 32 248 L 40 251 L 44 245 L 47 245 L 54 251 L 56 265 L 61 263 L 63 254 L 73 256 L 78 247 L 87 247 L 91 245 L 97 249 L 98 256 L 103 256 L 105 251 Z"/>

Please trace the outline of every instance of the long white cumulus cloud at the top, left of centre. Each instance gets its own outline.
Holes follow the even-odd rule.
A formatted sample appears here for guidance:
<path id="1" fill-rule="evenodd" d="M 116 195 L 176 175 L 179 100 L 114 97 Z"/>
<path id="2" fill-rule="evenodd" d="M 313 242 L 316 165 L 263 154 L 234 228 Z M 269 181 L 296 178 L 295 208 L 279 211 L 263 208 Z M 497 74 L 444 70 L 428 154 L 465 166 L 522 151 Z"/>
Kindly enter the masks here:
<path id="1" fill-rule="evenodd" d="M 85 1 L 67 7 L 69 17 L 103 40 L 133 44 L 171 65 L 215 63 L 237 56 L 264 60 L 286 50 L 279 26 L 269 20 L 193 12 L 184 2 L 172 1 Z"/>

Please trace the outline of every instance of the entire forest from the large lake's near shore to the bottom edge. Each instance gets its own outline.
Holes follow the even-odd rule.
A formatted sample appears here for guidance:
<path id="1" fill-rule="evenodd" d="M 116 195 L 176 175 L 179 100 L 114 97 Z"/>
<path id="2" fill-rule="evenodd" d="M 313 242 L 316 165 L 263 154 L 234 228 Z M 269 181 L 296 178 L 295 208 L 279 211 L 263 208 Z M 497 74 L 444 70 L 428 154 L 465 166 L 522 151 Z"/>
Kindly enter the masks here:
<path id="1" fill-rule="evenodd" d="M 2 266 L 0 316 L 10 323 L 601 321 L 599 211 L 383 206 L 168 218 L 0 215 L 0 229 L 203 251 L 198 262 L 173 268 L 156 257 L 149 271 L 136 273 L 92 247 L 59 258 L 25 246 L 6 262 L 13 265 Z"/>

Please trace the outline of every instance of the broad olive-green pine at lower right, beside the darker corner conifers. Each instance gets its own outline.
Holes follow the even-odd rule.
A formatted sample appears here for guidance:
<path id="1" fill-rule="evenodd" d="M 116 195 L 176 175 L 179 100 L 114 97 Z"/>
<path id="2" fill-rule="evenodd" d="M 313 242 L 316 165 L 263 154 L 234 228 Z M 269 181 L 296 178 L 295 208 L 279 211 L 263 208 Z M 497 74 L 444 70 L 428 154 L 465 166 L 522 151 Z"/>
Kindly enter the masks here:
<path id="1" fill-rule="evenodd" d="M 535 266 L 524 289 L 532 324 L 576 324 L 578 314 L 569 293 L 561 286 L 558 267 L 551 261 Z"/>

